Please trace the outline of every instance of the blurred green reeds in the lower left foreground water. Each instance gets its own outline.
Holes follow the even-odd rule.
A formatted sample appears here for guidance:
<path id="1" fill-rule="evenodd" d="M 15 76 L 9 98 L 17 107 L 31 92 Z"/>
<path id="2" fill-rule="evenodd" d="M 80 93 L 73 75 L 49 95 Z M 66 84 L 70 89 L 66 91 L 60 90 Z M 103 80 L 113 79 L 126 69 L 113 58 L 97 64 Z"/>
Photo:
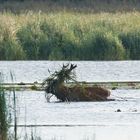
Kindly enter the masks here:
<path id="1" fill-rule="evenodd" d="M 11 74 L 11 80 L 13 81 L 13 75 Z M 18 125 L 17 125 L 17 99 L 15 89 L 10 89 L 10 94 L 7 100 L 7 93 L 2 86 L 3 75 L 0 73 L 0 140 L 19 140 Z M 10 110 L 12 109 L 12 111 Z M 11 118 L 13 119 L 13 132 L 10 130 Z M 32 130 L 31 134 L 25 132 L 24 140 L 41 140 L 40 137 Z"/>

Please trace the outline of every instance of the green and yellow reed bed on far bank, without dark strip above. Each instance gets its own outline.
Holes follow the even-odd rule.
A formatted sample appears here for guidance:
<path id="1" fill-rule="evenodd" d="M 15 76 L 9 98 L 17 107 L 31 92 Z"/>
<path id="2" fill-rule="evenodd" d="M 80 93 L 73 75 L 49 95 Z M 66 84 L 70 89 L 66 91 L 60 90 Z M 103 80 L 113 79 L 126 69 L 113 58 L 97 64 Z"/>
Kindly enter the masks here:
<path id="1" fill-rule="evenodd" d="M 0 13 L 0 60 L 140 59 L 140 13 Z"/>

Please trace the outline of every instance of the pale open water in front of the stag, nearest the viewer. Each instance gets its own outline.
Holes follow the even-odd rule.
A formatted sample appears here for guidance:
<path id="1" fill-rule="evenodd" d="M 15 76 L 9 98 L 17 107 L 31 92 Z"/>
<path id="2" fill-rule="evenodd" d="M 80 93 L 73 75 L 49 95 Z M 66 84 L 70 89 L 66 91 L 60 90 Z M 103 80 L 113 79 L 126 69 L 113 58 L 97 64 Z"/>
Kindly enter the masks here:
<path id="1" fill-rule="evenodd" d="M 116 101 L 56 103 L 53 98 L 47 103 L 44 92 L 19 91 L 18 123 L 39 125 L 34 131 L 43 140 L 138 140 L 140 90 L 111 93 L 110 98 Z M 118 109 L 121 112 L 116 112 Z M 20 128 L 20 134 L 23 131 Z M 30 133 L 31 128 L 27 131 Z"/>

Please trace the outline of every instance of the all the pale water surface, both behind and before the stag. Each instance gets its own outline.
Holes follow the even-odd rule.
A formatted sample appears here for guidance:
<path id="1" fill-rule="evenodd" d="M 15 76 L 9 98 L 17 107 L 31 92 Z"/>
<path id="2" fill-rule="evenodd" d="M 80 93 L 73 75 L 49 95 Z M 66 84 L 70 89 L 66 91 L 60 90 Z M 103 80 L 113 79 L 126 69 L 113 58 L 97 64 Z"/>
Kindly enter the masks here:
<path id="1" fill-rule="evenodd" d="M 5 82 L 42 82 L 63 63 L 54 61 L 1 61 Z M 140 81 L 140 61 L 73 62 L 79 81 Z M 138 140 L 140 90 L 113 90 L 110 102 L 47 103 L 43 91 L 17 91 L 18 124 L 46 125 L 27 128 L 42 140 Z M 118 109 L 121 112 L 116 112 Z M 55 125 L 55 126 L 54 126 Z M 24 135 L 25 128 L 19 128 Z"/>

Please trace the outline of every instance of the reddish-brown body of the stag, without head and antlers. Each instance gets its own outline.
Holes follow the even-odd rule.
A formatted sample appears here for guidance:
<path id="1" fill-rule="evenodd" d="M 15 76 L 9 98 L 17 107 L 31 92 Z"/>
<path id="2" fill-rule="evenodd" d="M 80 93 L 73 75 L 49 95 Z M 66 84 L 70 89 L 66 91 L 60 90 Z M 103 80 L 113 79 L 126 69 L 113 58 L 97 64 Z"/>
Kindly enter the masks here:
<path id="1" fill-rule="evenodd" d="M 61 86 L 58 88 L 58 95 L 63 97 L 58 97 L 62 101 L 105 101 L 110 96 L 110 91 L 102 87 Z"/>

